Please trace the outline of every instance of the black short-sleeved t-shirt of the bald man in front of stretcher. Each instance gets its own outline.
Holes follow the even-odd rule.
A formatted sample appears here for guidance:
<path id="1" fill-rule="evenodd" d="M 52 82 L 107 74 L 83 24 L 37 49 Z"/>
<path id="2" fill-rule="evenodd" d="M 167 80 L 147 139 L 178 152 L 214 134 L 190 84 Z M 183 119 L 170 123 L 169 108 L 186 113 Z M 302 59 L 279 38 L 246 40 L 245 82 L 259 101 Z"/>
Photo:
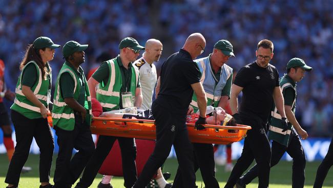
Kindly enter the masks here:
<path id="1" fill-rule="evenodd" d="M 190 53 L 180 49 L 162 65 L 156 102 L 175 113 L 186 115 L 193 96 L 191 84 L 200 82 L 200 75 Z"/>

